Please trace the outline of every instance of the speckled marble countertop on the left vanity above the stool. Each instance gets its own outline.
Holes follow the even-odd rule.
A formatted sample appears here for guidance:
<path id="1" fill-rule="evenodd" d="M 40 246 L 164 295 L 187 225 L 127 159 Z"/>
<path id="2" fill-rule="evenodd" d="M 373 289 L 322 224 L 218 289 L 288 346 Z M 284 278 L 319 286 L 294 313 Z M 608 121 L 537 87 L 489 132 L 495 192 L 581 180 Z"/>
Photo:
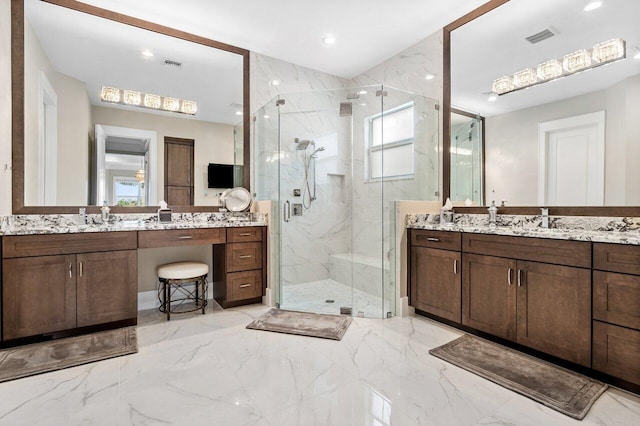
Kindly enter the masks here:
<path id="1" fill-rule="evenodd" d="M 266 215 L 252 214 L 247 217 L 230 215 L 189 215 L 171 222 L 159 223 L 155 216 L 133 218 L 117 217 L 107 223 L 100 218 L 87 215 L 87 224 L 78 224 L 75 217 L 39 216 L 26 218 L 14 216 L 11 224 L 4 223 L 0 235 L 73 234 L 90 232 L 160 231 L 170 229 L 230 228 L 266 226 Z"/>

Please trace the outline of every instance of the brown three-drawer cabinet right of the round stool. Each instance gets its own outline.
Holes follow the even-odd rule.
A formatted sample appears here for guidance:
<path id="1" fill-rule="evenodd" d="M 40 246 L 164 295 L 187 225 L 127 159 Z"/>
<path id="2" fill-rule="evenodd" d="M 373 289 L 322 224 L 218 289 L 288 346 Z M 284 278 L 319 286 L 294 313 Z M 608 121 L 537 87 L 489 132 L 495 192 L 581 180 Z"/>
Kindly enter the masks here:
<path id="1" fill-rule="evenodd" d="M 213 245 L 213 297 L 223 308 L 261 303 L 266 285 L 266 227 L 226 228 Z"/>

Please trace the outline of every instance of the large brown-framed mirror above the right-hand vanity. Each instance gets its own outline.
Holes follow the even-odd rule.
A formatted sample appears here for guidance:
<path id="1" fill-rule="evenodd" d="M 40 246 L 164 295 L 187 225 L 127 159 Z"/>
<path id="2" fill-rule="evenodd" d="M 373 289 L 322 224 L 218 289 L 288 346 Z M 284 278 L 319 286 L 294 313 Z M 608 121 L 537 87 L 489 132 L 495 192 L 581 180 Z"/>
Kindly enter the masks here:
<path id="1" fill-rule="evenodd" d="M 445 28 L 455 201 L 640 206 L 640 2 L 599 3 L 494 0 Z"/>

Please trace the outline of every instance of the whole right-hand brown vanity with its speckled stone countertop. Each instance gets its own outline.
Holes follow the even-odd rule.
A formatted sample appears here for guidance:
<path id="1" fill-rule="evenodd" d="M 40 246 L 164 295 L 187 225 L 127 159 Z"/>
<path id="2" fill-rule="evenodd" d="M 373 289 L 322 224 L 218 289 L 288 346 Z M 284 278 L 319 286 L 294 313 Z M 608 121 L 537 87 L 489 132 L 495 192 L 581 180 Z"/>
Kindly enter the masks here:
<path id="1" fill-rule="evenodd" d="M 640 237 L 411 226 L 416 313 L 640 390 Z"/>

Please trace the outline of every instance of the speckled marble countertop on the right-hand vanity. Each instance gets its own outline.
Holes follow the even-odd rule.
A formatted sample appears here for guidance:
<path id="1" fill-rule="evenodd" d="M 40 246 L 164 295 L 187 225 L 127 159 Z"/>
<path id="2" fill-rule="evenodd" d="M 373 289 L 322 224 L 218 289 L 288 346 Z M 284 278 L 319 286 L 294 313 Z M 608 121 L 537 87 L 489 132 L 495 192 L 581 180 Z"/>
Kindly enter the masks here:
<path id="1" fill-rule="evenodd" d="M 517 237 L 550 238 L 558 240 L 591 241 L 598 243 L 615 243 L 640 245 L 640 230 L 611 227 L 612 229 L 576 229 L 576 228 L 541 228 L 534 226 L 535 221 L 528 223 L 509 223 L 490 228 L 487 224 L 474 220 L 461 220 L 452 226 L 442 226 L 435 222 L 433 215 L 408 215 L 407 228 L 429 229 L 436 231 L 467 232 L 475 234 L 506 235 Z M 584 221 L 584 219 L 581 219 Z M 486 218 L 484 219 L 486 222 Z"/>

